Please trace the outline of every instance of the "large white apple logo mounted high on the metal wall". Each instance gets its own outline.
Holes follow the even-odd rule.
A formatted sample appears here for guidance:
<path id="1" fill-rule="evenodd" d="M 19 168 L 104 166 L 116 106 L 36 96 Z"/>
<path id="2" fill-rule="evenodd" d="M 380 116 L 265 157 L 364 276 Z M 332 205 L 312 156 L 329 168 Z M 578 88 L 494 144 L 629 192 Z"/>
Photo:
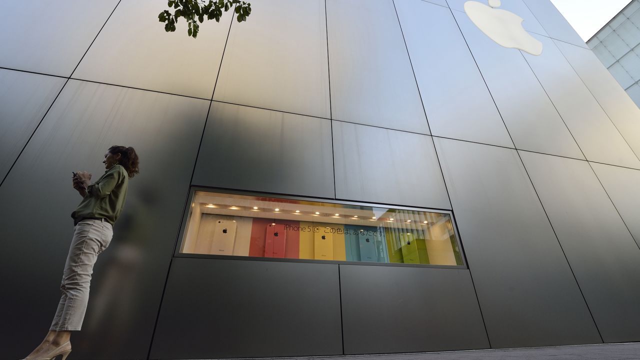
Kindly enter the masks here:
<path id="1" fill-rule="evenodd" d="M 500 0 L 489 0 L 489 6 L 467 1 L 465 12 L 477 28 L 497 44 L 535 56 L 542 54 L 542 43 L 522 27 L 524 19 L 507 10 L 497 9 L 500 4 Z"/>

